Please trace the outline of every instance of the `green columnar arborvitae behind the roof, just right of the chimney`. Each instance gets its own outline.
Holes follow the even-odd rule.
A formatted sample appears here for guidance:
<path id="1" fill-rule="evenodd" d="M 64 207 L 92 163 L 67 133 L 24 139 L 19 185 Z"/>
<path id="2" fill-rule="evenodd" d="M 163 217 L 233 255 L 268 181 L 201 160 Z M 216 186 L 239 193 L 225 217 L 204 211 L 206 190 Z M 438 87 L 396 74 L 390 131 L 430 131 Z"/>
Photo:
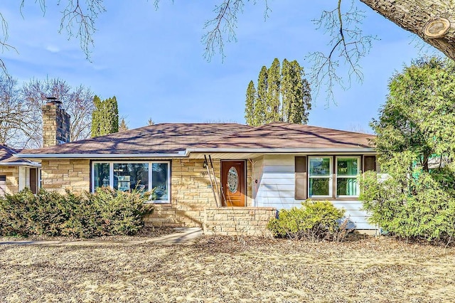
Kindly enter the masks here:
<path id="1" fill-rule="evenodd" d="M 92 137 L 112 134 L 119 131 L 119 107 L 117 98 L 112 97 L 100 100 L 100 97 L 93 98 L 95 110 L 92 114 Z"/>

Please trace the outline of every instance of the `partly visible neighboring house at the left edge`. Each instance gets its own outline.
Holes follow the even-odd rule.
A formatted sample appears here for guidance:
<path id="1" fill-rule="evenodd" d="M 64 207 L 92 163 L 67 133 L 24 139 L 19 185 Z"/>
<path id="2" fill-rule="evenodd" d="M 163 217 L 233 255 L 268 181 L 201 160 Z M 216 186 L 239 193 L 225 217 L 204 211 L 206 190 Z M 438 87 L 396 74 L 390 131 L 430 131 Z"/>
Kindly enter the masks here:
<path id="1" fill-rule="evenodd" d="M 41 164 L 14 156 L 19 151 L 0 144 L 0 196 L 31 188 L 36 193 L 40 184 Z"/>

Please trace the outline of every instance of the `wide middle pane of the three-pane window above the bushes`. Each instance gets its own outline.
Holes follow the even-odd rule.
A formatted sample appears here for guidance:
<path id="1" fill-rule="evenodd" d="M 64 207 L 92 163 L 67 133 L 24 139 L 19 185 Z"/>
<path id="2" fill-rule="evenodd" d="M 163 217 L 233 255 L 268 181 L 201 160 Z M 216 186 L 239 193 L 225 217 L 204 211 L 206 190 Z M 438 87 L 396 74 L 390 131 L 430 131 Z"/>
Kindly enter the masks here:
<path id="1" fill-rule="evenodd" d="M 149 191 L 149 164 L 114 163 L 114 188 L 119 191 Z"/>

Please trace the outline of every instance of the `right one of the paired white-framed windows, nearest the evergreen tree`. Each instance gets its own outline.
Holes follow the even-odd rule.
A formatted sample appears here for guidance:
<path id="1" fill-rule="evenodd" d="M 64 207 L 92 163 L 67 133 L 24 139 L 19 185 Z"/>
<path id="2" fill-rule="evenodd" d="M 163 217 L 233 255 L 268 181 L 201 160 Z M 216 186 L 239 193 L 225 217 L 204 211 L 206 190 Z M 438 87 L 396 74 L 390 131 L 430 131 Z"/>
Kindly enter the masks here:
<path id="1" fill-rule="evenodd" d="M 336 196 L 358 197 L 360 174 L 360 157 L 336 157 Z"/>

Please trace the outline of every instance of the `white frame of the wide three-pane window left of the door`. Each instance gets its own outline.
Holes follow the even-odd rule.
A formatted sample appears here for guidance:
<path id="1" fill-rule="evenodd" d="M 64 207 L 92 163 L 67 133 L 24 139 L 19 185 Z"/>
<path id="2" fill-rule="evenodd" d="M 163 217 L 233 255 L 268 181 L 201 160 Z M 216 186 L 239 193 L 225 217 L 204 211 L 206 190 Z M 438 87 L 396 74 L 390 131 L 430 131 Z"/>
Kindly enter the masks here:
<path id="1" fill-rule="evenodd" d="M 129 163 L 146 163 L 149 164 L 149 191 L 151 191 L 152 187 L 152 164 L 154 163 L 166 163 L 168 164 L 168 199 L 167 200 L 149 200 L 147 203 L 156 203 L 156 204 L 169 204 L 171 203 L 171 161 L 92 161 L 91 164 L 91 177 L 92 177 L 92 193 L 95 192 L 95 164 L 109 164 L 109 187 L 114 188 L 114 164 L 129 164 Z"/>

